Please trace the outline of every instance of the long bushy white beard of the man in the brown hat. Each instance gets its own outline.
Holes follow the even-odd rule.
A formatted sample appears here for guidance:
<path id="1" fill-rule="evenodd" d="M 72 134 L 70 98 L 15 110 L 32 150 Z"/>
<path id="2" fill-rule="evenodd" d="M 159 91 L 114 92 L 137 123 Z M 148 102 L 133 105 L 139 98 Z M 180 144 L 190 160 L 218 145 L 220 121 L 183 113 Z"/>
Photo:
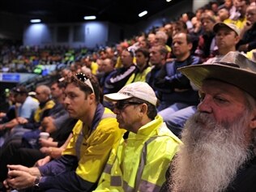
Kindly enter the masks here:
<path id="1" fill-rule="evenodd" d="M 182 133 L 177 158 L 172 162 L 171 191 L 224 191 L 236 176 L 237 169 L 250 158 L 246 144 L 247 113 L 239 121 L 216 122 L 207 114 L 195 113 Z"/>

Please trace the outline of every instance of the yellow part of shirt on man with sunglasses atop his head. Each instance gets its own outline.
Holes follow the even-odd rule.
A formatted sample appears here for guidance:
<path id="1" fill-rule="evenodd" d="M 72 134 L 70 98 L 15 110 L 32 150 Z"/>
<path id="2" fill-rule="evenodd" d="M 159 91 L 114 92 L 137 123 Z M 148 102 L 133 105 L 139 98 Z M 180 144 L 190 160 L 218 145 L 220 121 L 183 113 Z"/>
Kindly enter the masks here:
<path id="1" fill-rule="evenodd" d="M 79 134 L 83 133 L 82 140 Z M 62 155 L 77 156 L 79 165 L 75 173 L 83 180 L 96 182 L 109 158 L 109 153 L 122 138 L 124 130 L 119 129 L 115 114 L 105 108 L 99 125 L 92 133 L 83 129 L 83 122 L 78 121 L 73 129 L 73 137 Z M 79 144 L 79 147 L 78 147 Z"/>

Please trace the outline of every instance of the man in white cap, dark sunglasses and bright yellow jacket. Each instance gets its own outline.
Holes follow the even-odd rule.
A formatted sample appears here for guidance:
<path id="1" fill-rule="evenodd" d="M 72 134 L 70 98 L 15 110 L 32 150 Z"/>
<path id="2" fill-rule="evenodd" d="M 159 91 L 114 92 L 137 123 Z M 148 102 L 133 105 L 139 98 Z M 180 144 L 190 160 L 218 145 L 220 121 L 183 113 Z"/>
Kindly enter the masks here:
<path id="1" fill-rule="evenodd" d="M 143 82 L 105 95 L 114 101 L 119 126 L 127 130 L 114 149 L 96 191 L 159 191 L 179 139 L 156 112 L 156 95 Z"/>

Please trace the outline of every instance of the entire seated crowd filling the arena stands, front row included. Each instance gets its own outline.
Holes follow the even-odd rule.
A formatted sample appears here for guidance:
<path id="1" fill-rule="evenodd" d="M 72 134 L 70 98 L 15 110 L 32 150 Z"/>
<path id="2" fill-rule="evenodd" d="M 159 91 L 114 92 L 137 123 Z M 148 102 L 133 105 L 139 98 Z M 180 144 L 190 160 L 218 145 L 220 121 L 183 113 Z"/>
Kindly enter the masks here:
<path id="1" fill-rule="evenodd" d="M 256 4 L 219 2 L 93 53 L 19 55 L 59 68 L 0 113 L 1 190 L 255 191 Z"/>

